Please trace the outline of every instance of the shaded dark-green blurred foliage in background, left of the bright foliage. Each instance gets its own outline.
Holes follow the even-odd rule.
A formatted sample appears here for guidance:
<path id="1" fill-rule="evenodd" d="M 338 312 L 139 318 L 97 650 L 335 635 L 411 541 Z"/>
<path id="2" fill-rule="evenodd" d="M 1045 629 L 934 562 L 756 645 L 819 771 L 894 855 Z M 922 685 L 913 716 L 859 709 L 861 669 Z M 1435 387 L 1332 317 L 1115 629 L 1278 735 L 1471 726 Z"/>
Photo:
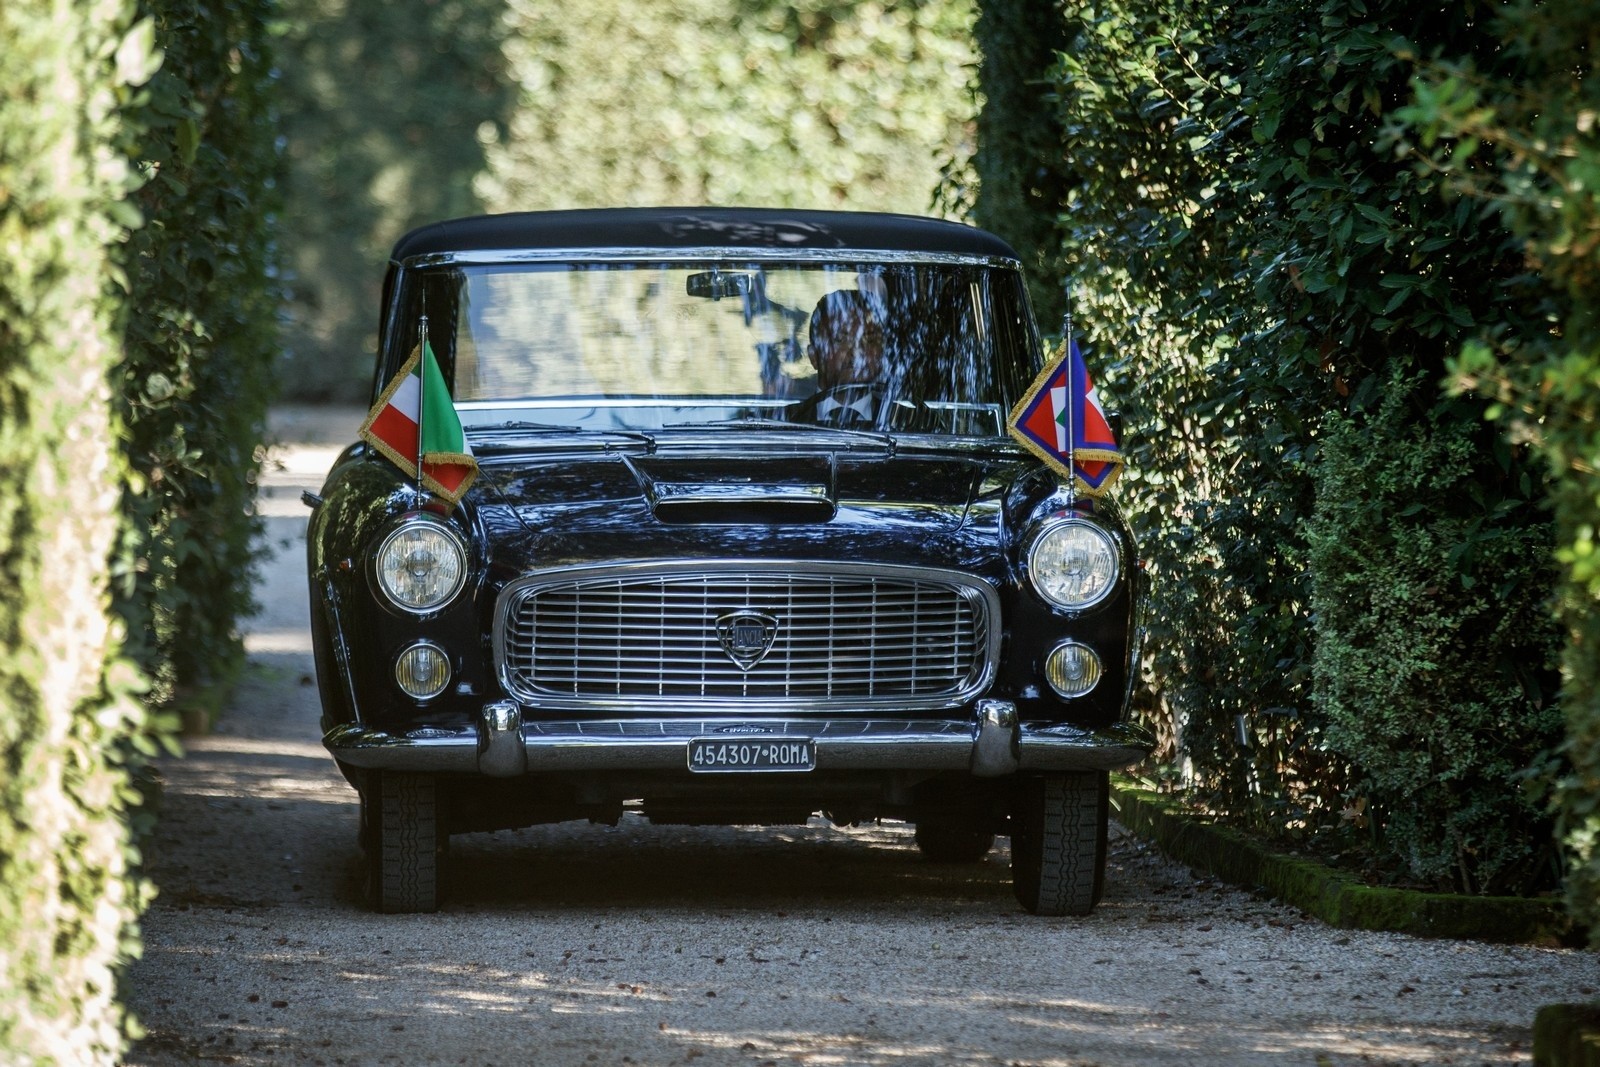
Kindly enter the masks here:
<path id="1" fill-rule="evenodd" d="M 482 208 L 472 181 L 483 139 L 499 136 L 515 101 L 501 53 L 506 3 L 278 6 L 278 240 L 290 283 L 280 378 L 299 398 L 365 398 L 395 238 Z"/>

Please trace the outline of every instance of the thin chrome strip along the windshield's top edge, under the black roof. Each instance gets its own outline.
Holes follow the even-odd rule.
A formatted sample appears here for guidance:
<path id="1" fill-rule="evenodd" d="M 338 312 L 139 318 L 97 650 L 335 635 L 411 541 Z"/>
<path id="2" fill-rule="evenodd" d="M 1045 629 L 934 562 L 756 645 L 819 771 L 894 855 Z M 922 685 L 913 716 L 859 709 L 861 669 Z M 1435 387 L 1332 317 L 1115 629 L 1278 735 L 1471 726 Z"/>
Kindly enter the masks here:
<path id="1" fill-rule="evenodd" d="M 904 251 L 888 248 L 762 248 L 744 245 L 704 245 L 699 248 L 464 248 L 461 251 L 411 256 L 395 266 L 406 270 L 446 266 L 499 266 L 530 262 L 902 262 L 930 266 L 971 266 L 1021 269 L 1006 256 L 970 253 Z M 394 262 L 394 261 L 390 261 Z"/>

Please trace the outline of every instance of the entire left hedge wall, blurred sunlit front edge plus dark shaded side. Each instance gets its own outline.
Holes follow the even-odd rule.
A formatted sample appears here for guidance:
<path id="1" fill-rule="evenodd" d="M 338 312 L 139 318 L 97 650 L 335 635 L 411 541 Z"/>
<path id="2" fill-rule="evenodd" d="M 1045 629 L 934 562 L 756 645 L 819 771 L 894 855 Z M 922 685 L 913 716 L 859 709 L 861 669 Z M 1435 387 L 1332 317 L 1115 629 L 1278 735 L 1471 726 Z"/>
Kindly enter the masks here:
<path id="1" fill-rule="evenodd" d="M 115 989 L 147 896 L 134 777 L 160 709 L 240 661 L 275 349 L 270 16 L 0 6 L 8 1064 L 110 1064 L 136 1029 Z"/>

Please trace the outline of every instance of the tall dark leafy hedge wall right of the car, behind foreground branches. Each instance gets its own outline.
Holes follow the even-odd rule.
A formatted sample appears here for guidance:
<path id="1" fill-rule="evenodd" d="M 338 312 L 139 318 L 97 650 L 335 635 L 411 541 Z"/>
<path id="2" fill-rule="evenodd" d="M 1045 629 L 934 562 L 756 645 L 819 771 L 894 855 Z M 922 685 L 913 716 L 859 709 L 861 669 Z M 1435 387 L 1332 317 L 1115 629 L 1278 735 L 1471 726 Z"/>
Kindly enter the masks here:
<path id="1" fill-rule="evenodd" d="M 1392 142 L 1410 54 L 1498 54 L 1472 6 L 1067 0 L 1043 165 L 1126 418 L 1173 776 L 1376 877 L 1515 893 L 1557 873 L 1542 466 L 1438 382 L 1547 299 Z"/>

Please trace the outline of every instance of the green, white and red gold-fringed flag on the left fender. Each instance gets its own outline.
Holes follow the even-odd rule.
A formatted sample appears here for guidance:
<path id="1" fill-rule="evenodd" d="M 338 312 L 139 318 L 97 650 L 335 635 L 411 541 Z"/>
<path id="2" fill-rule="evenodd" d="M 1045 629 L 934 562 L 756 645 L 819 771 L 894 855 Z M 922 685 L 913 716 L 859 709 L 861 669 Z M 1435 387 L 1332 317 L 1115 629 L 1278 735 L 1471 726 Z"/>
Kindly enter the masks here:
<path id="1" fill-rule="evenodd" d="M 402 470 L 421 472 L 421 488 L 451 504 L 461 501 L 478 474 L 478 461 L 461 432 L 461 416 L 426 338 L 366 414 L 362 440 Z"/>

